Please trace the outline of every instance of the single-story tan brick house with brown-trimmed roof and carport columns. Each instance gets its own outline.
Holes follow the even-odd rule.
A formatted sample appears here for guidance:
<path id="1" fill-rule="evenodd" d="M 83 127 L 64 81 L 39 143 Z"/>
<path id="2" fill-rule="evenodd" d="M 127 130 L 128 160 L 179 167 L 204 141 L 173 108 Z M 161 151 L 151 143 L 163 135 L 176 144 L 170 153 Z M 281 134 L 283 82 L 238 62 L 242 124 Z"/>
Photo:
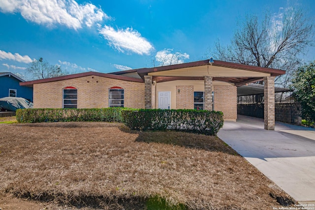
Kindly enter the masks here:
<path id="1" fill-rule="evenodd" d="M 204 109 L 237 119 L 237 87 L 264 80 L 265 129 L 274 129 L 274 79 L 285 71 L 221 60 L 199 60 L 113 73 L 85 72 L 21 82 L 34 108 L 130 107 Z"/>

